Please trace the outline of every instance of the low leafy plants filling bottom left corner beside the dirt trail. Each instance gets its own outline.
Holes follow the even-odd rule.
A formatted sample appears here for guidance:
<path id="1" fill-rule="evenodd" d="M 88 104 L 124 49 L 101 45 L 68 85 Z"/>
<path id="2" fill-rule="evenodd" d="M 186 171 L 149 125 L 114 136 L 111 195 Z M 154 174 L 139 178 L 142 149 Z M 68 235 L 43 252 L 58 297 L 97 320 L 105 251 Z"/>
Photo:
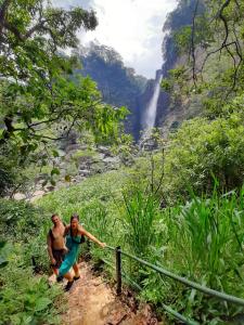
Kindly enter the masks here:
<path id="1" fill-rule="evenodd" d="M 47 277 L 34 276 L 31 266 L 23 266 L 21 245 L 9 244 L 7 249 L 9 264 L 0 275 L 0 324 L 60 324 L 61 288 L 50 287 Z"/>

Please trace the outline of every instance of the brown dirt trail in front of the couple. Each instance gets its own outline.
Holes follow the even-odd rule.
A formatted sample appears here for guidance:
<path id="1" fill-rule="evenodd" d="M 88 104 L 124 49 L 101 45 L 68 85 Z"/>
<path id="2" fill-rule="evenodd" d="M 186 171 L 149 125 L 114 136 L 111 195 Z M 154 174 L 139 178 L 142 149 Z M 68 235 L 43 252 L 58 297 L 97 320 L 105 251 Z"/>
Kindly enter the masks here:
<path id="1" fill-rule="evenodd" d="M 80 263 L 80 280 L 65 294 L 68 310 L 63 315 L 63 325 L 156 325 L 149 306 L 138 311 L 116 297 L 101 276 L 95 276 L 91 266 Z M 125 300 L 125 299 L 123 299 Z M 163 323 L 160 323 L 163 324 Z"/>

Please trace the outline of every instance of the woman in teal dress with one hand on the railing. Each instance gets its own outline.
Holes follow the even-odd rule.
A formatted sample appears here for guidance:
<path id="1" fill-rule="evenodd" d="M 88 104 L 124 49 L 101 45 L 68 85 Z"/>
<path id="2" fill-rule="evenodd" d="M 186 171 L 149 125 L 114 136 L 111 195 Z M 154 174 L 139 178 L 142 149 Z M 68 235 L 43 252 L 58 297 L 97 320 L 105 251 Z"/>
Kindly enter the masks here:
<path id="1" fill-rule="evenodd" d="M 77 257 L 79 252 L 79 245 L 82 243 L 82 236 L 87 236 L 89 239 L 97 243 L 102 248 L 104 248 L 106 245 L 104 243 L 101 243 L 94 236 L 92 236 L 79 224 L 78 214 L 72 216 L 70 225 L 66 226 L 65 235 L 66 235 L 66 247 L 68 249 L 68 252 L 66 253 L 65 259 L 59 269 L 57 281 L 63 276 L 67 278 L 68 283 L 65 287 L 65 290 L 68 291 L 74 281 L 80 277 L 79 268 L 77 264 Z M 73 276 L 72 273 L 69 272 L 70 268 L 74 269 L 75 276 Z"/>

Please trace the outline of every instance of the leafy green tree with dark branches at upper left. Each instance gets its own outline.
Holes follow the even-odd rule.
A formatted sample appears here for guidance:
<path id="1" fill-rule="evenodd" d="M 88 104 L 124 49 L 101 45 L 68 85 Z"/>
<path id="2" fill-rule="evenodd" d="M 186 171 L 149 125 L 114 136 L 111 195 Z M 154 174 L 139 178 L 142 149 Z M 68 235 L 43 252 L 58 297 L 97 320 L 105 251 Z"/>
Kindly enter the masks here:
<path id="1" fill-rule="evenodd" d="M 97 25 L 94 12 L 79 6 L 64 10 L 41 0 L 1 1 L 2 174 L 10 171 L 8 160 L 12 167 L 21 166 L 30 153 L 43 151 L 50 140 L 68 135 L 73 128 L 90 129 L 100 140 L 118 135 L 118 121 L 127 110 L 104 104 L 90 78 L 72 78 L 77 60 L 62 53 L 78 47 L 80 28 L 92 30 Z"/>

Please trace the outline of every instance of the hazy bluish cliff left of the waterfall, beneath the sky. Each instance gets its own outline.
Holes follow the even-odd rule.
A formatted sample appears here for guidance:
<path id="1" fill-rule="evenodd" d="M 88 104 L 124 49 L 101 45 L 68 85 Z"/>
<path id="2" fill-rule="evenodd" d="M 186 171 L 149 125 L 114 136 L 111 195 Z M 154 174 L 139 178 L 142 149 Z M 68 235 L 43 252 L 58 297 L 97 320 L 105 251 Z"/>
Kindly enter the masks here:
<path id="1" fill-rule="evenodd" d="M 137 140 L 146 78 L 126 67 L 120 55 L 105 46 L 91 43 L 90 48 L 81 49 L 79 56 L 82 69 L 77 69 L 76 73 L 90 76 L 97 81 L 104 102 L 114 106 L 127 106 L 130 114 L 125 123 L 126 131 Z"/>

